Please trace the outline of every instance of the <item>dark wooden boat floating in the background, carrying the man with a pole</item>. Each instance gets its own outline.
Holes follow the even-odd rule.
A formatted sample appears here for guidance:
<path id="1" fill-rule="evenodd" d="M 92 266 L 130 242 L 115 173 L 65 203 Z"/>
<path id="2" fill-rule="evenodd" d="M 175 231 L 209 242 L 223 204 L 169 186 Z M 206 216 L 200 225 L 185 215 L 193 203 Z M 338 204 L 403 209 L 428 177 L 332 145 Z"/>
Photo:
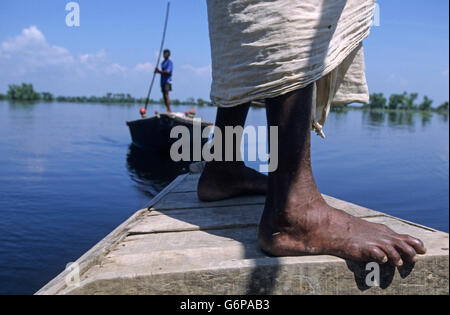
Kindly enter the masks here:
<path id="1" fill-rule="evenodd" d="M 192 153 L 194 119 L 181 113 L 158 114 L 150 118 L 143 118 L 127 122 L 130 128 L 133 145 L 150 152 L 170 153 L 172 144 L 179 138 L 170 138 L 170 131 L 175 126 L 185 126 L 189 130 Z M 201 131 L 211 126 L 209 122 L 201 121 Z M 181 137 L 181 136 L 180 136 Z M 208 139 L 202 139 L 202 146 Z"/>

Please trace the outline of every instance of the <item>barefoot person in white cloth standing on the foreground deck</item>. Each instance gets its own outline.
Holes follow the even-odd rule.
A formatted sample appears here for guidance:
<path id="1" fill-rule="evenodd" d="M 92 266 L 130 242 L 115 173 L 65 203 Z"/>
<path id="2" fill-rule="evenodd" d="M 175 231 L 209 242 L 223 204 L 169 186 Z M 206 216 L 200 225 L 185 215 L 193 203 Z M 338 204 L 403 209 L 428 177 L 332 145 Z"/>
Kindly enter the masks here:
<path id="1" fill-rule="evenodd" d="M 311 166 L 310 131 L 324 136 L 331 104 L 369 100 L 362 41 L 375 0 L 207 4 L 216 127 L 222 134 L 227 127 L 243 128 L 250 103 L 264 100 L 268 126 L 278 128 L 279 155 L 278 168 L 267 178 L 239 160 L 207 163 L 198 197 L 266 194 L 258 241 L 273 256 L 334 255 L 393 266 L 416 262 L 426 251 L 419 239 L 328 205 Z M 271 142 L 269 136 L 269 148 Z"/>

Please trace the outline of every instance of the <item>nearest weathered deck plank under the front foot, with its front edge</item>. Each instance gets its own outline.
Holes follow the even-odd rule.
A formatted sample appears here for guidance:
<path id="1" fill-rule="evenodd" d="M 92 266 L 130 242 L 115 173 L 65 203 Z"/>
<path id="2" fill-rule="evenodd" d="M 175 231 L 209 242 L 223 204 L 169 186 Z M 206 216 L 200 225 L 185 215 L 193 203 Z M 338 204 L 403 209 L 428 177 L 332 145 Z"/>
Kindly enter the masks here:
<path id="1" fill-rule="evenodd" d="M 365 265 L 332 256 L 266 256 L 258 248 L 256 227 L 129 236 L 101 265 L 91 268 L 81 288 L 71 293 L 448 293 L 448 234 L 389 217 L 366 220 L 420 236 L 429 252 L 414 268 L 405 266 L 398 273 L 382 266 L 385 287 L 368 290 L 363 282 Z"/>

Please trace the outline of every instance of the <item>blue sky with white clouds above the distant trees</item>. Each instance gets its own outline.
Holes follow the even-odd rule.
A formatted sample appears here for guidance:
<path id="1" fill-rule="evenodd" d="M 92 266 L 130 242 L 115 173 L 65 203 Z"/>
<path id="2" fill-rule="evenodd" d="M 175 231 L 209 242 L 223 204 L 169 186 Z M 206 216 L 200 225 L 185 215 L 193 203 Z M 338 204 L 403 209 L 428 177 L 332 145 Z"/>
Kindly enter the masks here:
<path id="1" fill-rule="evenodd" d="M 331 0 L 330 0 L 331 1 Z M 66 25 L 66 0 L 0 1 L 0 93 L 32 83 L 54 95 L 147 94 L 166 0 L 78 0 L 80 26 Z M 365 39 L 370 92 L 449 99 L 449 2 L 378 0 L 380 25 Z M 173 98 L 209 99 L 206 0 L 172 0 L 166 48 Z M 159 99 L 158 84 L 152 98 Z"/>

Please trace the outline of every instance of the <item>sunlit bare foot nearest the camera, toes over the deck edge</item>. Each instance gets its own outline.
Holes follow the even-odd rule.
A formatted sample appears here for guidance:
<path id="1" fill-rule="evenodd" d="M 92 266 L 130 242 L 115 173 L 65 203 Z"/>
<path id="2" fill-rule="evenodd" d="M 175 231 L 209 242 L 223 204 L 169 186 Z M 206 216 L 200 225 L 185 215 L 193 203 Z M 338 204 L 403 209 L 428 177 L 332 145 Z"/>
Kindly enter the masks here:
<path id="1" fill-rule="evenodd" d="M 288 201 L 282 214 L 267 204 L 259 244 L 274 256 L 334 255 L 401 266 L 426 252 L 420 240 L 332 208 L 322 197 L 306 204 Z"/>

